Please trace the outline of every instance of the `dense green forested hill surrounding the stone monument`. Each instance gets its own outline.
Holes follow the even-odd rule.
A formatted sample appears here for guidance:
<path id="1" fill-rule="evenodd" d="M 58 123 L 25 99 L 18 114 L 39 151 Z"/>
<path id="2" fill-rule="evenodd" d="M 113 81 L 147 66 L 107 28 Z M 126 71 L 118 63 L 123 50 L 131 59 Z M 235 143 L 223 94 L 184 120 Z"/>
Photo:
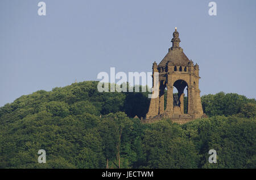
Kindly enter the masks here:
<path id="1" fill-rule="evenodd" d="M 256 168 L 255 99 L 204 95 L 209 118 L 141 124 L 133 117 L 146 115 L 148 93 L 99 93 L 97 84 L 40 90 L 1 107 L 0 168 L 106 168 L 107 160 L 109 168 Z"/>

